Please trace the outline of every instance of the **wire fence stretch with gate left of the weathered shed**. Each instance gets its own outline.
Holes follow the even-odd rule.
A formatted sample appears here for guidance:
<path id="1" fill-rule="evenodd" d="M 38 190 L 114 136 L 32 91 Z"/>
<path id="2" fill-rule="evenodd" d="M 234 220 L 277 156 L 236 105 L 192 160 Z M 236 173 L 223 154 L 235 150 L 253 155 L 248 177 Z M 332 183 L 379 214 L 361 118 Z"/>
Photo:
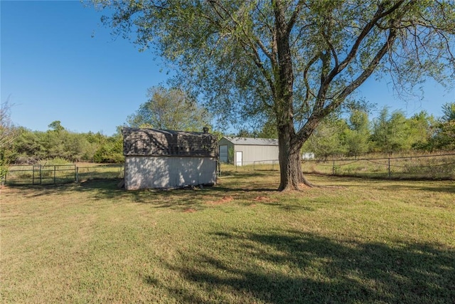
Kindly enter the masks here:
<path id="1" fill-rule="evenodd" d="M 87 179 L 117 179 L 124 177 L 124 164 L 33 164 L 13 165 L 3 184 L 65 184 Z"/>

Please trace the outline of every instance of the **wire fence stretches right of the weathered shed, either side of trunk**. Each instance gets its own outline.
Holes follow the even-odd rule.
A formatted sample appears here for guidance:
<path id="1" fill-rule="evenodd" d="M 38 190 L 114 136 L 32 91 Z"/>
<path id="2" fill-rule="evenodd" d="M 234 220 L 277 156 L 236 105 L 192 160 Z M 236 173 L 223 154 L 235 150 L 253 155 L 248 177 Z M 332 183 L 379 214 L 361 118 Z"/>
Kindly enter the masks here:
<path id="1" fill-rule="evenodd" d="M 455 153 L 405 157 L 363 157 L 346 159 L 304 159 L 306 174 L 382 179 L 455 179 Z M 277 171 L 277 159 L 221 164 L 220 171 Z"/>

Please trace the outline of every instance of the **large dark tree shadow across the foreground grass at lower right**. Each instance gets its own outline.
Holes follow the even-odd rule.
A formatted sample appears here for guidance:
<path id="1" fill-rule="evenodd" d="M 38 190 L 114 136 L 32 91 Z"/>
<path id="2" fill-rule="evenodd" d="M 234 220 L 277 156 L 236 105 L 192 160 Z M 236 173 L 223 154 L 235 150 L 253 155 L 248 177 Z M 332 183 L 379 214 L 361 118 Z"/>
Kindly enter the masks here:
<path id="1" fill-rule="evenodd" d="M 186 280 L 182 285 L 161 282 L 177 301 L 453 303 L 455 299 L 453 248 L 401 241 L 341 243 L 298 231 L 216 232 L 213 239 L 216 255 L 181 253 L 178 261 L 183 262 L 167 262 L 176 276 Z M 230 248 L 225 248 L 226 243 Z"/>

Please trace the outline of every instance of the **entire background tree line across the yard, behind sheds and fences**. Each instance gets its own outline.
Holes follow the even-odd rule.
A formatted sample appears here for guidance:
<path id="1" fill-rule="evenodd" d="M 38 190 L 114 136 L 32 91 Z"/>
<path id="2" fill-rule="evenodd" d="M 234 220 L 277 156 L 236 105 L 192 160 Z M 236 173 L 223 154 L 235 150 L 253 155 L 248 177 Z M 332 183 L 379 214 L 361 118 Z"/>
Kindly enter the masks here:
<path id="1" fill-rule="evenodd" d="M 154 87 L 149 100 L 127 117 L 129 127 L 200 131 L 210 127 L 212 115 L 179 88 Z M 321 121 L 301 152 L 314 152 L 317 158 L 358 157 L 367 153 L 434 152 L 455 150 L 455 103 L 442 106 L 441 117 L 421 111 L 407 118 L 402 111 L 383 108 L 370 119 L 368 105 L 353 102 L 348 112 L 333 112 Z M 36 164 L 45 159 L 66 162 L 124 162 L 122 126 L 116 134 L 76 133 L 66 130 L 59 120 L 46 131 L 16 127 L 10 119 L 10 106 L 2 104 L 0 161 L 7 164 Z M 213 129 L 213 128 L 212 128 Z M 223 133 L 211 131 L 220 139 Z M 269 120 L 257 130 L 240 130 L 239 137 L 277 138 L 277 127 Z"/>

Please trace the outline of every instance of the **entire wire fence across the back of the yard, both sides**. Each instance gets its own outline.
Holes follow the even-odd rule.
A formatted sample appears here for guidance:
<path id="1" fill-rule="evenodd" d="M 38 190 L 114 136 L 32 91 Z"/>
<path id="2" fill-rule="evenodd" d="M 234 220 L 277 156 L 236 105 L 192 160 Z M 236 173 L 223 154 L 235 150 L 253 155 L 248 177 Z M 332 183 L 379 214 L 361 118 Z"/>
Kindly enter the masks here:
<path id="1" fill-rule="evenodd" d="M 306 174 L 380 179 L 451 179 L 455 180 L 455 153 L 405 157 L 371 157 L 354 159 L 305 159 Z M 219 173 L 235 171 L 278 171 L 277 159 L 235 164 L 220 164 Z M 124 164 L 14 165 L 9 167 L 3 184 L 63 184 L 87 179 L 124 177 Z"/>

